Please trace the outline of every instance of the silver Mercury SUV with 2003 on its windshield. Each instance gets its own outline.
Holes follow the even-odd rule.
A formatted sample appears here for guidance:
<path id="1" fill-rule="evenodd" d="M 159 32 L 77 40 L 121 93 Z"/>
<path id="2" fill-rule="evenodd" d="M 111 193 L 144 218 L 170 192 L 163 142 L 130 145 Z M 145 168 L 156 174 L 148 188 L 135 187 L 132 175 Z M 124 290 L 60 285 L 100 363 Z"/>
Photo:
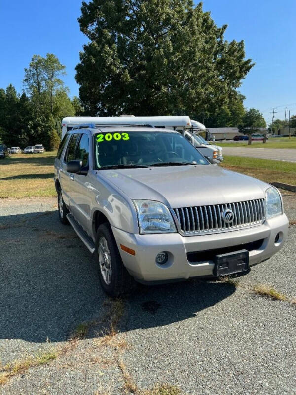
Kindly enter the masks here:
<path id="1" fill-rule="evenodd" d="M 244 274 L 288 233 L 271 185 L 211 165 L 177 131 L 77 127 L 55 159 L 59 217 L 116 296 L 142 283 Z"/>

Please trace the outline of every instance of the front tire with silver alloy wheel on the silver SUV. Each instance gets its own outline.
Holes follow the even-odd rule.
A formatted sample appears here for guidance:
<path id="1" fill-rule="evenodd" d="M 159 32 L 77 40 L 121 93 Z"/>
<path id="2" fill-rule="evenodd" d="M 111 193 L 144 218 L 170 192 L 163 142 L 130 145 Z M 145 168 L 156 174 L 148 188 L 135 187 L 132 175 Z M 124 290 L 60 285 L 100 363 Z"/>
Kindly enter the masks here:
<path id="1" fill-rule="evenodd" d="M 102 224 L 98 228 L 95 257 L 102 288 L 108 295 L 117 297 L 133 288 L 134 279 L 123 265 L 115 238 L 108 224 Z"/>

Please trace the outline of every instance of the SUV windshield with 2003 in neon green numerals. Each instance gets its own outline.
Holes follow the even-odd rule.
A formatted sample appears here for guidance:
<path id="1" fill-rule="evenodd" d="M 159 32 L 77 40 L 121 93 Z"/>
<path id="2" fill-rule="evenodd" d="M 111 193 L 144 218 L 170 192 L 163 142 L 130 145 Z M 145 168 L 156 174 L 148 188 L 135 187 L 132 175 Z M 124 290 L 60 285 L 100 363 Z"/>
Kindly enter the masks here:
<path id="1" fill-rule="evenodd" d="M 95 168 L 209 164 L 182 135 L 119 131 L 94 135 Z"/>

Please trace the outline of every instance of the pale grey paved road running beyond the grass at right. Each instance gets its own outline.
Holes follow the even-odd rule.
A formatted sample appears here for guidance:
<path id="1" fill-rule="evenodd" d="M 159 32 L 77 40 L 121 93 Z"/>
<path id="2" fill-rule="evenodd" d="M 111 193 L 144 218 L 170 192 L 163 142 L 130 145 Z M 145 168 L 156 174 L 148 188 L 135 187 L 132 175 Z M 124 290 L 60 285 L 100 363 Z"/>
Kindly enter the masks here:
<path id="1" fill-rule="evenodd" d="M 219 145 L 219 142 L 217 142 Z M 296 149 L 293 148 L 249 148 L 249 147 L 223 147 L 224 155 L 238 157 L 284 160 L 296 162 Z"/>

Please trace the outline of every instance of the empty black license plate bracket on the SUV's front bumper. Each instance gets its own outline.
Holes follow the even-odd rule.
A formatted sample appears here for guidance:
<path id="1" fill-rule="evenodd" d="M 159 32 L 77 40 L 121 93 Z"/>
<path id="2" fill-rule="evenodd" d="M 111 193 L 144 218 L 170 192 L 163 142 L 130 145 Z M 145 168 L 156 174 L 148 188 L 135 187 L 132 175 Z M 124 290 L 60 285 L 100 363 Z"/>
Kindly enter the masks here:
<path id="1" fill-rule="evenodd" d="M 214 276 L 216 277 L 247 272 L 249 270 L 249 251 L 239 250 L 219 254 L 215 256 L 214 262 Z"/>

